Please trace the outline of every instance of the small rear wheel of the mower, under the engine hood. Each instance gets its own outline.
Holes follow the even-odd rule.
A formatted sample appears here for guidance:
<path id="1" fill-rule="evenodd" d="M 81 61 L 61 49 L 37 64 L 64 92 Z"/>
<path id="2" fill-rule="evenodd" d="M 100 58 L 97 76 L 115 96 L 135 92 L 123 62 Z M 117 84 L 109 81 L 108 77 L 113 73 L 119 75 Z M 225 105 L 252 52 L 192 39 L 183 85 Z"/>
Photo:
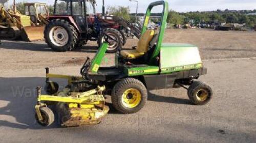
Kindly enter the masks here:
<path id="1" fill-rule="evenodd" d="M 205 105 L 212 99 L 212 89 L 204 82 L 194 81 L 188 88 L 188 98 L 196 105 Z"/>

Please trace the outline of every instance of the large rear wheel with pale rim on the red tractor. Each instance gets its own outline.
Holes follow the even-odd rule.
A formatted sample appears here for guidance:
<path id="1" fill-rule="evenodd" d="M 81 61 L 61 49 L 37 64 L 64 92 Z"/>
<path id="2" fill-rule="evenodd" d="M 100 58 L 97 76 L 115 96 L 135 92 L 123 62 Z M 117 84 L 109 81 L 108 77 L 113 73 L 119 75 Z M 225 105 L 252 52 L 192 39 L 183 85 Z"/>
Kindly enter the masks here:
<path id="1" fill-rule="evenodd" d="M 77 32 L 63 19 L 54 19 L 46 25 L 44 37 L 54 51 L 71 51 L 77 44 Z"/>

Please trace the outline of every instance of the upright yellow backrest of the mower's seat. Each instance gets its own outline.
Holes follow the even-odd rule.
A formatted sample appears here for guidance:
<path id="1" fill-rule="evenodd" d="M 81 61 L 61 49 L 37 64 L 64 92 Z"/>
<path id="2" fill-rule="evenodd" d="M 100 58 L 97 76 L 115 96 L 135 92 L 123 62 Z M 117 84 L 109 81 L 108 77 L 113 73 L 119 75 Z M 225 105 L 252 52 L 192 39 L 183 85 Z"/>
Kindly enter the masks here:
<path id="1" fill-rule="evenodd" d="M 138 42 L 136 50 L 138 52 L 146 53 L 148 51 L 148 45 L 150 44 L 150 41 L 154 37 L 154 30 L 147 30 L 141 37 Z"/>

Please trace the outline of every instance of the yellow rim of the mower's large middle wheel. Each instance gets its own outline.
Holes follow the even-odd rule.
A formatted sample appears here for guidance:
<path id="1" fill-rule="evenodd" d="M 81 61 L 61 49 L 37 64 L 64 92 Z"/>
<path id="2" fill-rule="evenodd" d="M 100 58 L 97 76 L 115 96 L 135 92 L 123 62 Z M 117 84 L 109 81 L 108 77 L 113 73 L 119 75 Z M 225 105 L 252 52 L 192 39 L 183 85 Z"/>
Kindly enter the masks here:
<path id="1" fill-rule="evenodd" d="M 122 104 L 127 108 L 134 108 L 140 104 L 141 93 L 137 89 L 127 89 L 122 95 Z"/>

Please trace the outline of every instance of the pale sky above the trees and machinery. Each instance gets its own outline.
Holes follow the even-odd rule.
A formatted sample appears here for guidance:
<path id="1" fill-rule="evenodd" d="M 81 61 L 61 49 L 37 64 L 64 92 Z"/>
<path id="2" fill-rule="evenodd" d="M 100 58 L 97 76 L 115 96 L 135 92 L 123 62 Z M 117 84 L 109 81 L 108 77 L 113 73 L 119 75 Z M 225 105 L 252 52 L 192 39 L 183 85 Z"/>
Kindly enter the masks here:
<path id="1" fill-rule="evenodd" d="M 23 0 L 16 0 L 17 2 L 23 2 Z M 53 4 L 54 0 L 27 0 L 26 2 L 44 2 L 47 4 Z M 97 12 L 101 11 L 102 0 L 96 0 Z M 151 2 L 155 0 L 138 0 L 139 13 L 145 13 L 145 10 Z M 10 1 L 12 3 L 12 1 Z M 256 0 L 168 0 L 169 9 L 178 12 L 189 11 L 210 11 L 210 10 L 253 10 L 256 9 Z M 129 6 L 131 12 L 136 12 L 136 3 L 129 0 L 105 0 L 106 6 Z"/>

